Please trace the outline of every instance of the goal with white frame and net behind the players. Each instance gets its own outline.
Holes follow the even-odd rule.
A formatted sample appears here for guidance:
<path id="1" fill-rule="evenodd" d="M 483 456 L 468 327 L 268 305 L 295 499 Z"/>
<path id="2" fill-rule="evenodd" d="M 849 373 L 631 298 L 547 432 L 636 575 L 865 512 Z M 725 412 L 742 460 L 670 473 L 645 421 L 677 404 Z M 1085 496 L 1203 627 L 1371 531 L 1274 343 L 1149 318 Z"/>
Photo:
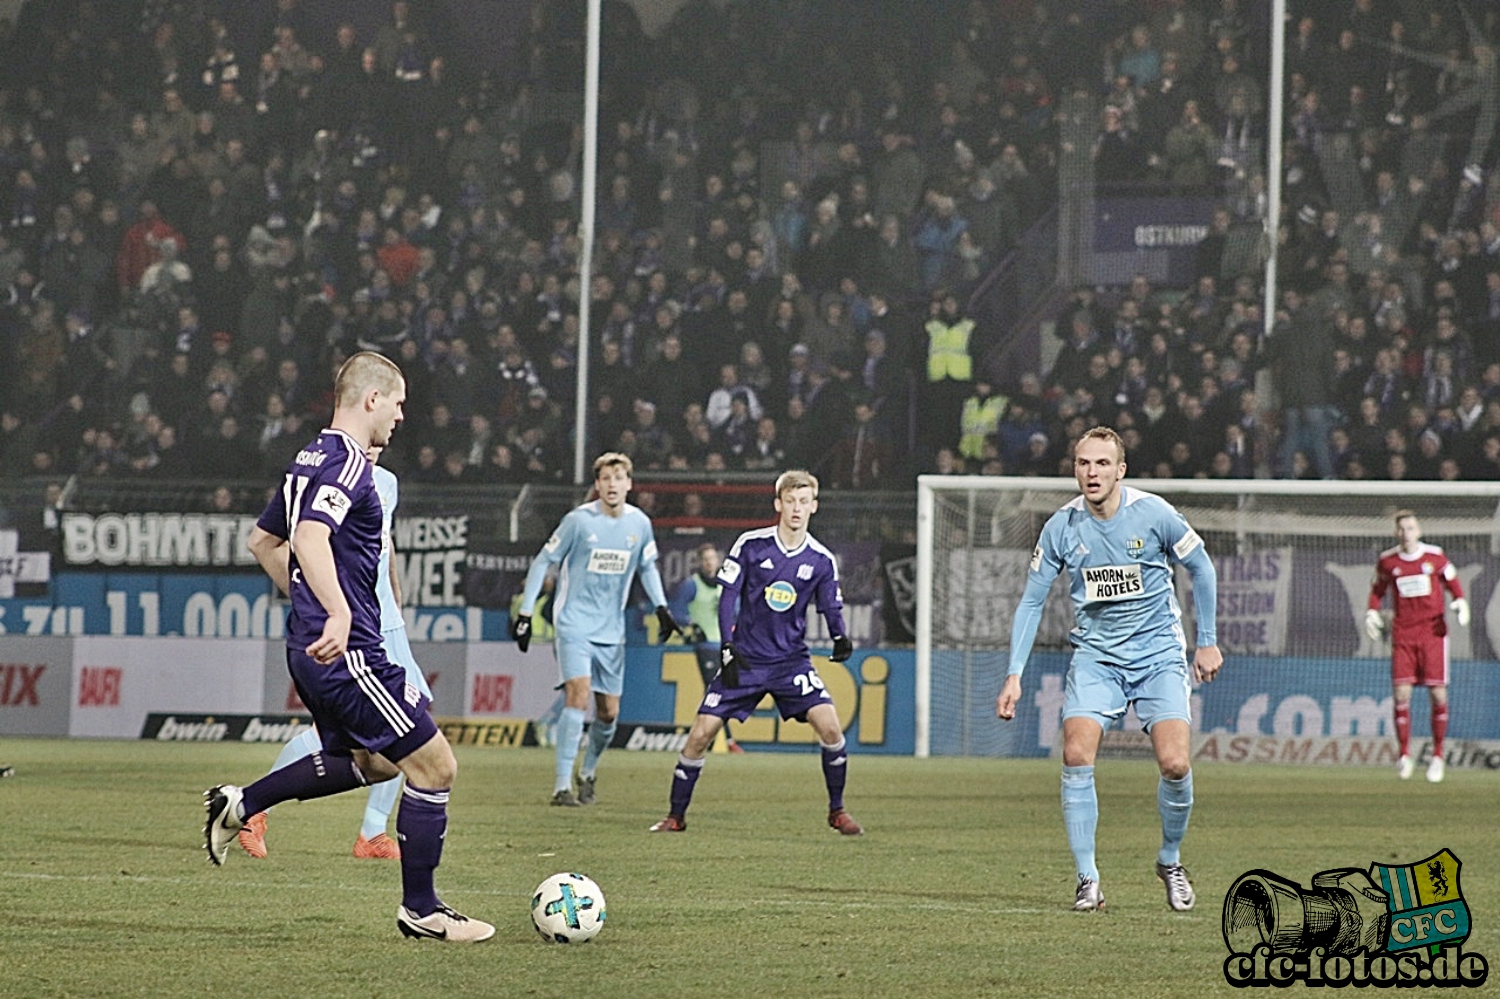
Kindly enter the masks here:
<path id="1" fill-rule="evenodd" d="M 1390 734 L 1389 645 L 1362 622 L 1394 513 L 1416 512 L 1473 608 L 1449 614 L 1450 738 L 1494 740 L 1500 684 L 1466 660 L 1500 660 L 1500 483 L 1126 480 L 1172 502 L 1218 570 L 1226 668 L 1196 687 L 1196 734 L 1383 738 Z M 1010 663 L 1011 620 L 1042 525 L 1077 495 L 1071 478 L 922 476 L 916 549 L 916 753 L 1035 756 L 1058 744 L 1072 606 L 1066 579 L 1047 598 L 1017 718 L 994 698 Z M 1192 592 L 1178 570 L 1184 632 Z M 1386 597 L 1389 608 L 1390 597 Z M 1413 700 L 1424 735 L 1425 698 Z M 1125 718 L 1126 730 L 1138 729 Z M 1497 730 L 1491 732 L 1491 728 Z M 1254 752 L 1254 746 L 1250 750 Z M 1282 752 L 1282 750 L 1275 750 Z"/>

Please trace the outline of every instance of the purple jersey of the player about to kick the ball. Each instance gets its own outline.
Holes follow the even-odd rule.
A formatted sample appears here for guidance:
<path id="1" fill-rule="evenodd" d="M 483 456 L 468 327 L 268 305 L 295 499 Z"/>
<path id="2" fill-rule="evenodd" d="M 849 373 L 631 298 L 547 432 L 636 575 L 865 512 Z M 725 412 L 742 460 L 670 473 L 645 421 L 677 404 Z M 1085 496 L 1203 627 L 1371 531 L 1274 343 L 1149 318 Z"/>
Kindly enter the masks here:
<path id="1" fill-rule="evenodd" d="M 352 614 L 350 648 L 380 646 L 380 597 L 375 596 L 382 530 L 380 494 L 364 448 L 342 430 L 327 429 L 297 452 L 256 524 L 290 540 L 302 520 L 326 524 L 332 531 L 333 564 Z M 292 549 L 288 648 L 308 648 L 322 634 L 327 620 L 327 610 L 302 578 Z"/>

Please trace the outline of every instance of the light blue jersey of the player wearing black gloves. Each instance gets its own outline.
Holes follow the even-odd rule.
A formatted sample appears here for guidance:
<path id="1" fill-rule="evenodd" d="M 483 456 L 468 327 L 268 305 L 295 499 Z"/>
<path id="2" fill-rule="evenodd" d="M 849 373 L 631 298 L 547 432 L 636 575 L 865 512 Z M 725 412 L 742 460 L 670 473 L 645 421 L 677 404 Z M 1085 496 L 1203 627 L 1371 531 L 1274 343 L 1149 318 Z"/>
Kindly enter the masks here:
<path id="1" fill-rule="evenodd" d="M 666 604 L 666 590 L 657 568 L 651 518 L 624 504 L 618 518 L 594 500 L 574 507 L 531 560 L 520 614 L 531 614 L 548 567 L 558 566 L 552 596 L 552 624 L 568 640 L 618 645 L 626 640 L 626 603 L 630 582 L 639 573 L 651 606 Z"/>

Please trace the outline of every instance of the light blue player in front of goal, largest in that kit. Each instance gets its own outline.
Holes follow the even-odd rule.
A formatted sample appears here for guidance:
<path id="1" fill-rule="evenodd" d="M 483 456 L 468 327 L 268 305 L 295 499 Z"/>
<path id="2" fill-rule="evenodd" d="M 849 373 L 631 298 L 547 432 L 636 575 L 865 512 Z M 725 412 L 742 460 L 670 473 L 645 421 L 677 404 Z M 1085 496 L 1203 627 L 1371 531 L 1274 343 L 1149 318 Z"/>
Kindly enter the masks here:
<path id="1" fill-rule="evenodd" d="M 1188 702 L 1186 638 L 1172 588 L 1172 562 L 1192 578 L 1197 650 L 1192 675 L 1210 681 L 1224 664 L 1214 633 L 1218 578 L 1203 540 L 1170 502 L 1124 486 L 1125 446 L 1110 428 L 1094 428 L 1074 446 L 1074 477 L 1082 495 L 1042 526 L 1032 554 L 1026 591 L 1011 627 L 1011 666 L 996 714 L 1016 717 L 1022 670 L 1030 657 L 1042 604 L 1053 579 L 1066 572 L 1072 596 L 1072 663 L 1062 706 L 1062 820 L 1078 868 L 1072 908 L 1104 908 L 1094 831 L 1100 804 L 1094 759 L 1104 728 L 1126 708 L 1150 734 L 1161 780 L 1161 849 L 1156 876 L 1167 904 L 1192 908 L 1192 884 L 1182 867 L 1182 837 L 1192 812 L 1192 729 Z"/>

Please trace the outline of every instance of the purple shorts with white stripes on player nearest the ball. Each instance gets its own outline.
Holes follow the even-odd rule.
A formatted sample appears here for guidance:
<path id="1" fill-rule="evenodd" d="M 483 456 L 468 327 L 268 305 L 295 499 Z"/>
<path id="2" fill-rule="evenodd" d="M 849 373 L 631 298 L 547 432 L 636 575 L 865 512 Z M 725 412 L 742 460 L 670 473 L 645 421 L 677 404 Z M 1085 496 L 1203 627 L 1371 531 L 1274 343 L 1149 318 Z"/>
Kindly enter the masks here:
<path id="1" fill-rule="evenodd" d="M 288 648 L 286 669 L 322 748 L 334 756 L 363 748 L 396 762 L 438 734 L 428 714 L 432 699 L 406 682 L 406 669 L 386 658 L 380 645 L 351 648 L 333 663 Z"/>

